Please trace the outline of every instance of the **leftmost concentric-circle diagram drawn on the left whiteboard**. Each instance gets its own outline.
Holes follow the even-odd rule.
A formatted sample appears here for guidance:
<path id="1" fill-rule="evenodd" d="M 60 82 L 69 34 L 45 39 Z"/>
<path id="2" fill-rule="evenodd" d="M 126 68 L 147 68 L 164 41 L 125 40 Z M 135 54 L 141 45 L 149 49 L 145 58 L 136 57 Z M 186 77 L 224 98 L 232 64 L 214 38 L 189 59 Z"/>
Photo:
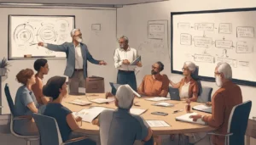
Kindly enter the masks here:
<path id="1" fill-rule="evenodd" d="M 14 31 L 14 40 L 18 46 L 29 44 L 33 41 L 34 36 L 32 34 L 33 28 L 31 25 L 22 24 L 18 25 Z"/>

